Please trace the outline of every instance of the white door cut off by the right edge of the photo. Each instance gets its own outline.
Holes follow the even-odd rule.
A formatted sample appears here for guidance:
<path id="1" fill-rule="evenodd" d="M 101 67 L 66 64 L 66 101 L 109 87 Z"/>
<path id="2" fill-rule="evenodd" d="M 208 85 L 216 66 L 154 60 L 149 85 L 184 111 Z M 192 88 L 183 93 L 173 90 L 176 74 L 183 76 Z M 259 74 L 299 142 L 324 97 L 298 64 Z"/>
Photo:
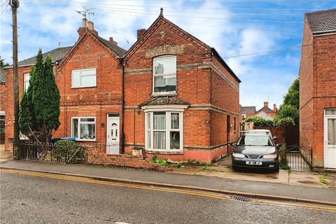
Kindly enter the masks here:
<path id="1" fill-rule="evenodd" d="M 324 114 L 324 168 L 336 169 L 336 109 Z"/>

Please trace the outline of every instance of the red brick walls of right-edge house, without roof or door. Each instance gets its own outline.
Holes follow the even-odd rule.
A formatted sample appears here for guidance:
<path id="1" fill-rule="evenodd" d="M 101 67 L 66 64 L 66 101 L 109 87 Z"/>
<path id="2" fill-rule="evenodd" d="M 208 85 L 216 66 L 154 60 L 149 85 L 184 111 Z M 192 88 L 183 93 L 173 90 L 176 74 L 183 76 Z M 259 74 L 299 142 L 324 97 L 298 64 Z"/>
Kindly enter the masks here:
<path id="1" fill-rule="evenodd" d="M 313 36 L 305 19 L 302 45 L 300 146 L 312 148 L 314 166 L 323 167 L 323 114 L 336 108 L 336 34 Z"/>

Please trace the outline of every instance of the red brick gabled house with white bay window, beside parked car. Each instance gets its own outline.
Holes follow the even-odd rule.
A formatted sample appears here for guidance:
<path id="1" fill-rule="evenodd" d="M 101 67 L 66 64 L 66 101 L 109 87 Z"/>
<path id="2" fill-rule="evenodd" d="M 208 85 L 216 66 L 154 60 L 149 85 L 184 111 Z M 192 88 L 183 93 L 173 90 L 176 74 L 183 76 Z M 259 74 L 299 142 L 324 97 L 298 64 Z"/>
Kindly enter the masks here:
<path id="1" fill-rule="evenodd" d="M 212 161 L 239 134 L 239 83 L 218 52 L 160 15 L 124 56 L 125 151 Z"/>

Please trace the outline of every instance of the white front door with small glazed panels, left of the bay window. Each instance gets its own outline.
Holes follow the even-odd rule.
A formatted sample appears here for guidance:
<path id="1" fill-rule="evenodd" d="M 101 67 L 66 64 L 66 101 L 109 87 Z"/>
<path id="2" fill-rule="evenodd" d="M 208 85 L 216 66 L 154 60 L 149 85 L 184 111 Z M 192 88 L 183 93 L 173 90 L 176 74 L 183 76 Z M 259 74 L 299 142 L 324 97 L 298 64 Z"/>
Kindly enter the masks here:
<path id="1" fill-rule="evenodd" d="M 119 154 L 119 115 L 109 113 L 106 126 L 106 153 Z"/>

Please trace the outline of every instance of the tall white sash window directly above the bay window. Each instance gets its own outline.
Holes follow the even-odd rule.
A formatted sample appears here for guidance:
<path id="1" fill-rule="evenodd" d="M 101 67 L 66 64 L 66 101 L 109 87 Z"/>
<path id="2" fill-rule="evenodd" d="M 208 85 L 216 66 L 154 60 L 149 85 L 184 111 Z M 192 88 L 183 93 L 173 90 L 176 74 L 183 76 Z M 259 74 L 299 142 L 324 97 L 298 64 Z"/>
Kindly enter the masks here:
<path id="1" fill-rule="evenodd" d="M 153 94 L 176 93 L 176 56 L 155 57 L 153 60 Z"/>

